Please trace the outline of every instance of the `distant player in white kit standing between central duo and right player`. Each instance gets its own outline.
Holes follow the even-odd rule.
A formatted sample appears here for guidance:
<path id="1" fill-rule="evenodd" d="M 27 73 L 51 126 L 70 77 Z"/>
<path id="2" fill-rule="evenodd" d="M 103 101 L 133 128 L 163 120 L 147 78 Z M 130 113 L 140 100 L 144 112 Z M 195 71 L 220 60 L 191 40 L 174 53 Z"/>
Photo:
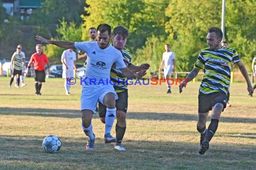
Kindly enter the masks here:
<path id="1" fill-rule="evenodd" d="M 171 91 L 171 81 L 167 81 L 169 78 L 172 76 L 172 72 L 175 72 L 175 54 L 173 51 L 170 50 L 170 45 L 165 44 L 164 46 L 165 52 L 163 53 L 163 59 L 161 61 L 160 67 L 159 67 L 159 72 L 162 71 L 163 67 L 163 74 L 164 78 L 166 80 L 166 85 L 168 87 L 167 93 L 172 93 Z M 161 77 L 159 77 L 161 78 Z"/>

